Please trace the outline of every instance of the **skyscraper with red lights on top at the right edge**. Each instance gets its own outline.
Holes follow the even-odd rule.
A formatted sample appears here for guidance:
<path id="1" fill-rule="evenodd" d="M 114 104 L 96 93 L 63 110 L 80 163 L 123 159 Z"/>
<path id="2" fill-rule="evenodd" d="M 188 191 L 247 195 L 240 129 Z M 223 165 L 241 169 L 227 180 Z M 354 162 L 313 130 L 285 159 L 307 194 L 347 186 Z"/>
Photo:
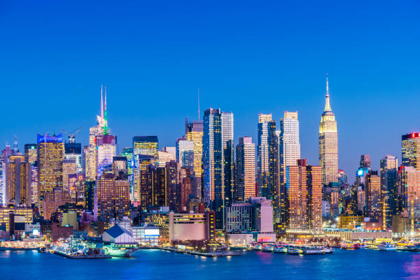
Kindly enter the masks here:
<path id="1" fill-rule="evenodd" d="M 420 170 L 420 133 L 410 133 L 401 137 L 402 165 Z"/>

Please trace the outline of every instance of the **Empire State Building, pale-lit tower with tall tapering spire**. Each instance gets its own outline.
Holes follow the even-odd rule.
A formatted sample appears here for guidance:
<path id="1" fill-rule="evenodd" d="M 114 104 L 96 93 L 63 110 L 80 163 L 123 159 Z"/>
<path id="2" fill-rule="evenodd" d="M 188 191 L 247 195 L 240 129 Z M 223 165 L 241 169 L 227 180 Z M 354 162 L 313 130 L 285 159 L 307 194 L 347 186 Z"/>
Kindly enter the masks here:
<path id="1" fill-rule="evenodd" d="M 319 123 L 319 165 L 323 184 L 338 181 L 338 136 L 337 122 L 329 104 L 328 74 L 325 108 Z"/>

